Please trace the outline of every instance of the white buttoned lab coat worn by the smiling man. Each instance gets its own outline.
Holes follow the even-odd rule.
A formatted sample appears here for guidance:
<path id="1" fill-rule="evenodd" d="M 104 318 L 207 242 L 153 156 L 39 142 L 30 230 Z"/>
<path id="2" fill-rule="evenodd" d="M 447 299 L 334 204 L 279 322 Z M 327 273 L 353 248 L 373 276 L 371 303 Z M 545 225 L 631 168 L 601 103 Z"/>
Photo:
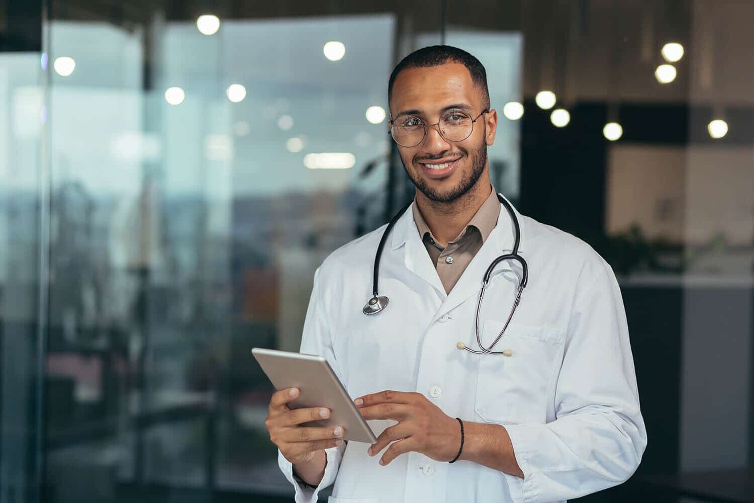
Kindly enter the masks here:
<path id="1" fill-rule="evenodd" d="M 293 480 L 279 455 L 296 501 L 315 501 L 333 482 L 330 503 L 560 501 L 618 485 L 636 471 L 647 437 L 615 275 L 578 238 L 516 216 L 529 284 L 495 346 L 510 349 L 510 357 L 455 347 L 460 340 L 477 348 L 481 280 L 489 263 L 513 247 L 502 206 L 498 225 L 447 295 L 409 208 L 385 243 L 379 292 L 390 304 L 375 316 L 361 309 L 372 296 L 372 263 L 385 226 L 333 252 L 314 274 L 301 351 L 326 357 L 351 397 L 416 391 L 448 416 L 503 425 L 524 478 L 418 452 L 383 467 L 381 455 L 366 454 L 369 445 L 351 441 L 326 450 L 325 474 L 314 491 Z M 505 264 L 484 297 L 486 345 L 514 299 L 520 270 Z M 394 424 L 370 422 L 378 436 Z"/>

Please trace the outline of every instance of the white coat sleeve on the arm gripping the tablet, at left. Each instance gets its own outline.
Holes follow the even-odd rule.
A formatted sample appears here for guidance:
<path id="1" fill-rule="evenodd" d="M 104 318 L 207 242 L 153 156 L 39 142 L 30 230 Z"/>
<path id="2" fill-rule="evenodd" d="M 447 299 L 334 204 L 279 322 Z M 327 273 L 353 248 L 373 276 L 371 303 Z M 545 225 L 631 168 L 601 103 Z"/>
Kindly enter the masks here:
<path id="1" fill-rule="evenodd" d="M 317 271 L 314 271 L 314 287 L 311 290 L 311 298 L 309 299 L 309 305 L 306 310 L 304 332 L 301 340 L 301 352 L 320 354 L 325 357 L 330 364 L 330 367 L 333 367 L 338 378 L 342 379 L 338 361 L 333 353 L 332 340 L 330 339 L 330 319 L 327 313 L 331 311 L 328 309 L 329 302 L 328 299 L 326 299 L 325 292 L 320 284 L 319 273 L 320 269 L 317 268 Z M 322 481 L 316 489 L 308 489 L 296 482 L 293 478 L 293 465 L 284 458 L 283 454 L 278 449 L 277 464 L 280 465 L 280 470 L 283 471 L 285 477 L 293 484 L 293 487 L 296 490 L 296 503 L 313 503 L 314 501 L 317 501 L 317 495 L 320 490 L 335 482 L 344 451 L 345 443 L 338 447 L 325 449 L 327 464 Z"/>

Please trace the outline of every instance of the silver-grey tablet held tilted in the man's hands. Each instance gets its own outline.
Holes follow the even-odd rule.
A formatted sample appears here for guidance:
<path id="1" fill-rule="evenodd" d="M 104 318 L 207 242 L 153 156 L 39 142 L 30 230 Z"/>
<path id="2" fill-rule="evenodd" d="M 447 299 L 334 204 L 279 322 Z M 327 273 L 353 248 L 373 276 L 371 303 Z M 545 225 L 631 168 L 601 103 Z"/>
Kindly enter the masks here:
<path id="1" fill-rule="evenodd" d="M 274 349 L 252 348 L 252 354 L 277 391 L 299 388 L 299 397 L 288 403 L 291 409 L 327 407 L 328 419 L 305 423 L 308 426 L 341 426 L 345 440 L 375 443 L 377 437 L 366 424 L 354 400 L 348 396 L 338 376 L 324 357 Z"/>

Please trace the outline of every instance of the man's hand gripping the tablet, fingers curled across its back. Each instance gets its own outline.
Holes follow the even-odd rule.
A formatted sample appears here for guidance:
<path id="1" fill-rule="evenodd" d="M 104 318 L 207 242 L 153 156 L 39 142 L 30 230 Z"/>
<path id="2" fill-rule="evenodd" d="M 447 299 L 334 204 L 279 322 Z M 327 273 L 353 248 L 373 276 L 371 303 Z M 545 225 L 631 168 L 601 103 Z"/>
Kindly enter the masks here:
<path id="1" fill-rule="evenodd" d="M 330 416 L 329 409 L 311 407 L 308 409 L 288 408 L 288 403 L 299 396 L 298 388 L 276 391 L 270 400 L 265 428 L 285 459 L 293 465 L 301 465 L 314 460 L 317 452 L 343 443 L 343 428 L 315 428 L 300 426 L 302 423 L 320 421 Z"/>

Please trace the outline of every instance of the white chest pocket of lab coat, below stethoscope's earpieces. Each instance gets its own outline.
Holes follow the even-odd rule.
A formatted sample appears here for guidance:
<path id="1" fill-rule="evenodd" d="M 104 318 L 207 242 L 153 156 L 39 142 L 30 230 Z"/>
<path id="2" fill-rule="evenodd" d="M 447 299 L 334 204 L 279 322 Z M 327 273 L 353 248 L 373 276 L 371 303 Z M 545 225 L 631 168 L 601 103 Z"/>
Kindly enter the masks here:
<path id="1" fill-rule="evenodd" d="M 504 321 L 484 323 L 482 342 L 489 345 Z M 484 422 L 544 423 L 550 386 L 562 359 L 565 332 L 554 327 L 511 323 L 492 351 L 480 354 L 474 409 Z"/>

